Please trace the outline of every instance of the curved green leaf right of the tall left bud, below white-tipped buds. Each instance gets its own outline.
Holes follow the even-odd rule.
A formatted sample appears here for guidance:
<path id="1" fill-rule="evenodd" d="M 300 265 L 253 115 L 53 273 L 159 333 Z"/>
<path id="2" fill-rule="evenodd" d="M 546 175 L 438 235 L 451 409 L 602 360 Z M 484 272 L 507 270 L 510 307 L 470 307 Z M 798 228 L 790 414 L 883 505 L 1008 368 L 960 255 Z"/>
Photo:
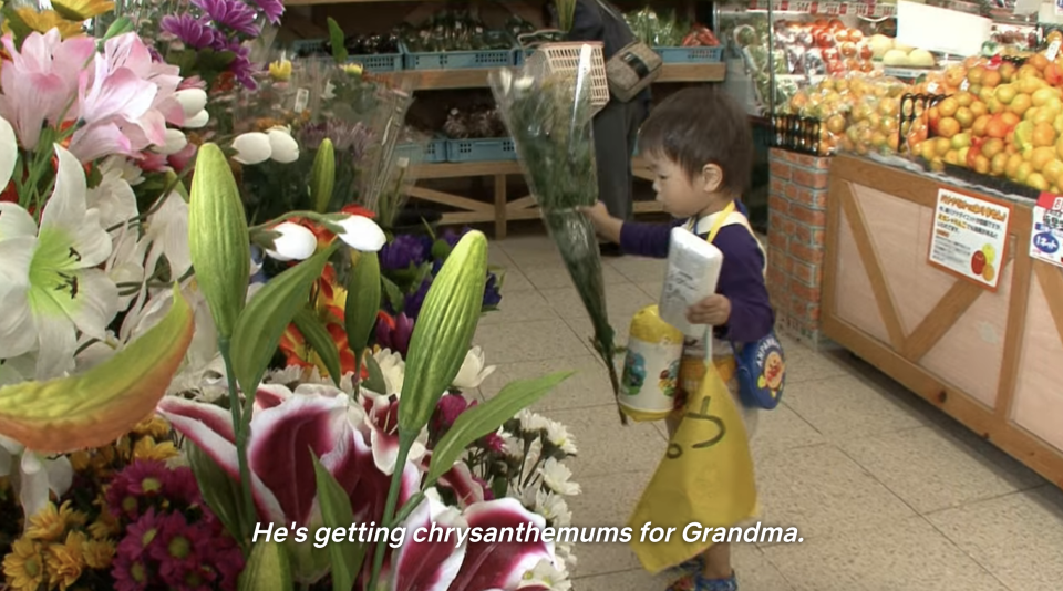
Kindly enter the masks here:
<path id="1" fill-rule="evenodd" d="M 307 303 L 310 286 L 321 277 L 337 242 L 278 274 L 247 303 L 233 331 L 233 369 L 245 392 L 258 388 L 277 352 L 280 336 Z M 255 396 L 248 396 L 254 403 Z M 248 417 L 250 413 L 247 413 Z"/>

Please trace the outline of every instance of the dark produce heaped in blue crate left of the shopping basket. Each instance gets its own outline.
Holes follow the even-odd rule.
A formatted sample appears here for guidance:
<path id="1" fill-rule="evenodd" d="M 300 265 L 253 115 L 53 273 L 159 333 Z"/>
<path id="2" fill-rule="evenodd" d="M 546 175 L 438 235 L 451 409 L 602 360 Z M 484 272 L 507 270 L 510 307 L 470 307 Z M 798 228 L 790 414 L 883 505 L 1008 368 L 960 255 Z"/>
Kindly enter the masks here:
<path id="1" fill-rule="evenodd" d="M 441 10 L 420 27 L 404 27 L 401 39 L 413 53 L 505 50 L 514 46 L 506 31 L 487 29 L 475 9 Z"/>

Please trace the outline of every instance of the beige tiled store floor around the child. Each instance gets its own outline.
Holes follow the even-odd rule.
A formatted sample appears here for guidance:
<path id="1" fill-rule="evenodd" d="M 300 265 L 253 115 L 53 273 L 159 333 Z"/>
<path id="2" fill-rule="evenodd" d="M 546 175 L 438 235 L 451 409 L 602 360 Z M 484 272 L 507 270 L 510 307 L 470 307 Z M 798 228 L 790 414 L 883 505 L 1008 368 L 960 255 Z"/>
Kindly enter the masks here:
<path id="1" fill-rule="evenodd" d="M 544 236 L 493 242 L 502 309 L 476 341 L 498 370 L 482 386 L 575 369 L 538 405 L 579 445 L 577 526 L 623 526 L 665 447 L 662 427 L 622 427 L 586 312 Z M 605 259 L 619 342 L 652 303 L 663 261 Z M 1059 591 L 1063 492 L 846 353 L 787 342 L 785 402 L 753 443 L 765 522 L 796 545 L 737 545 L 742 591 Z M 575 591 L 663 591 L 625 545 L 581 546 Z"/>

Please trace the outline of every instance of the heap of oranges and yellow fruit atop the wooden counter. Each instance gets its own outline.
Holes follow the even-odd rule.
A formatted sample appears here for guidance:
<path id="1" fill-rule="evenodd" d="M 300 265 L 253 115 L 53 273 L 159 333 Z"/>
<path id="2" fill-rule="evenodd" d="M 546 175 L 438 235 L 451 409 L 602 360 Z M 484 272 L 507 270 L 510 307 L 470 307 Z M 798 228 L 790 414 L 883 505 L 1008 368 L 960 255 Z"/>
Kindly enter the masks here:
<path id="1" fill-rule="evenodd" d="M 939 98 L 901 126 L 901 100 L 908 94 Z M 1059 48 L 1031 53 L 1021 63 L 969 58 L 914 85 L 850 73 L 798 92 L 785 107 L 821 121 L 823 153 L 900 154 L 933 170 L 953 166 L 1035 190 L 1063 188 Z"/>

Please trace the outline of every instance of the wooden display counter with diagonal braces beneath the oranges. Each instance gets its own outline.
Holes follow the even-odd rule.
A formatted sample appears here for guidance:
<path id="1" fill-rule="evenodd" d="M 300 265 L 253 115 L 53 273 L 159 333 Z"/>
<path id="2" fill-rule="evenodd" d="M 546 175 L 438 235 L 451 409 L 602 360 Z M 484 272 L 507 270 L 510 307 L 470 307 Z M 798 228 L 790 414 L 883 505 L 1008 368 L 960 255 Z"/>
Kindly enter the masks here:
<path id="1" fill-rule="evenodd" d="M 937 212 L 942 188 L 1012 207 L 995 292 L 928 262 L 932 234 L 949 235 L 935 228 L 951 219 Z M 1063 487 L 1063 268 L 1029 255 L 1033 205 L 835 157 L 822 321 L 829 339 Z"/>

